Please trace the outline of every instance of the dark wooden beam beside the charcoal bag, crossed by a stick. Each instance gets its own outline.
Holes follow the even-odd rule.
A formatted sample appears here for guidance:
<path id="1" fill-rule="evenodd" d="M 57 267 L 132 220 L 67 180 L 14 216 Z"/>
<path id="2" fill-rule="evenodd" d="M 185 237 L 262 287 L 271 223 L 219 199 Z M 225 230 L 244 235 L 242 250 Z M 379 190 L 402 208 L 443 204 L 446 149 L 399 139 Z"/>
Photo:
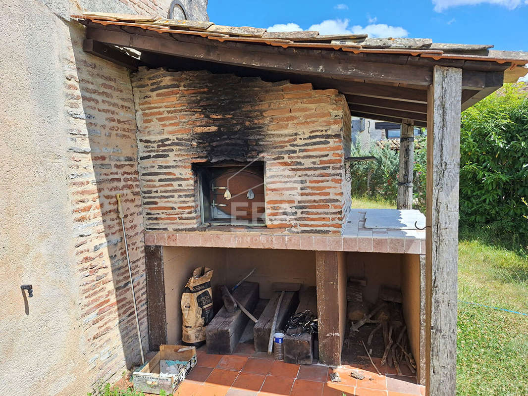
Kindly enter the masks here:
<path id="1" fill-rule="evenodd" d="M 243 282 L 233 291 L 233 297 L 252 311 L 259 300 L 259 284 Z M 248 317 L 240 309 L 229 313 L 222 307 L 206 328 L 207 353 L 233 353 L 247 323 Z"/>

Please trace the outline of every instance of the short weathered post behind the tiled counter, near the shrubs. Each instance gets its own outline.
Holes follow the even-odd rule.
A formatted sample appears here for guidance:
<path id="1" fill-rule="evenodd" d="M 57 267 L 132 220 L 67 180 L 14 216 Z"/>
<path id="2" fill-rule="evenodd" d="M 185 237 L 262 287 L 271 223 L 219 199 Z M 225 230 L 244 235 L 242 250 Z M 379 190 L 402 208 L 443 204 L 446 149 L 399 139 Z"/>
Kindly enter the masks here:
<path id="1" fill-rule="evenodd" d="M 400 170 L 398 172 L 398 209 L 412 209 L 412 176 L 414 162 L 414 124 L 404 120 L 400 133 Z"/>

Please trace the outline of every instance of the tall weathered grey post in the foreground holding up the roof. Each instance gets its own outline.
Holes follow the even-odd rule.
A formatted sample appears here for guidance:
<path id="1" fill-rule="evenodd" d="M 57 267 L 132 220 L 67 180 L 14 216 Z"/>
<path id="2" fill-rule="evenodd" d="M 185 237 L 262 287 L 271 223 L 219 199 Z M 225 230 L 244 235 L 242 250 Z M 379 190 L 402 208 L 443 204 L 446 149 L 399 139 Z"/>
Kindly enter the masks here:
<path id="1" fill-rule="evenodd" d="M 426 394 L 454 396 L 462 70 L 435 66 L 428 90 Z"/>

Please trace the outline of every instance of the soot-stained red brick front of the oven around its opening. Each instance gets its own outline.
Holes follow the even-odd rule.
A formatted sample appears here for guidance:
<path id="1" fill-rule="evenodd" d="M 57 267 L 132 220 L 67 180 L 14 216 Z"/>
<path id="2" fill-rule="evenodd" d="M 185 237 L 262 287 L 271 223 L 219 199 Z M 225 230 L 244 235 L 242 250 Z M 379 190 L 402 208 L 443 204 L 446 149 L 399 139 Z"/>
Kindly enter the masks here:
<path id="1" fill-rule="evenodd" d="M 351 121 L 337 91 L 205 71 L 140 70 L 132 80 L 146 230 L 199 227 L 192 162 L 259 160 L 268 228 L 341 231 Z"/>

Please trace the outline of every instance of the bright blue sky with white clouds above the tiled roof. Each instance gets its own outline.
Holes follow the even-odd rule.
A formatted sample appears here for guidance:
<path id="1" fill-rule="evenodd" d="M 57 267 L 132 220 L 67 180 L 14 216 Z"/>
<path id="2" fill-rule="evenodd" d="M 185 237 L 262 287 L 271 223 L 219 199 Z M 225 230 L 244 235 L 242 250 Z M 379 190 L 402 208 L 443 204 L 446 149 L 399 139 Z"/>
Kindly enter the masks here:
<path id="1" fill-rule="evenodd" d="M 528 0 L 209 0 L 208 12 L 221 25 L 290 24 L 275 30 L 311 27 L 325 34 L 366 32 L 528 51 Z"/>

